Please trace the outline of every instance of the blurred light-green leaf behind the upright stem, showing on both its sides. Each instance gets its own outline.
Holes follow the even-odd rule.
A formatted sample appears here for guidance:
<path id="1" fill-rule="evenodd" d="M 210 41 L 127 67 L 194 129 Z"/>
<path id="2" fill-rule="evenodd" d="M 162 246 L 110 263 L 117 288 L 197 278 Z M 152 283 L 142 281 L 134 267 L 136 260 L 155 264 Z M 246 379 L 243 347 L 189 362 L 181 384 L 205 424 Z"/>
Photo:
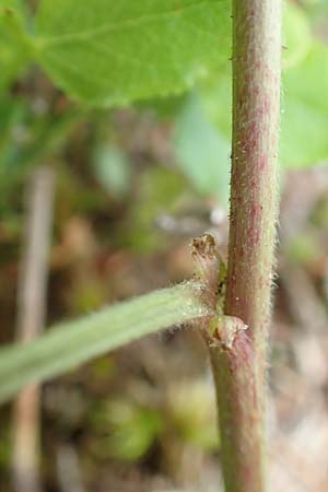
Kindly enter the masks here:
<path id="1" fill-rule="evenodd" d="M 231 82 L 227 74 L 200 86 L 207 115 L 231 139 Z M 280 162 L 308 167 L 328 159 L 328 47 L 312 39 L 307 55 L 283 71 Z"/>

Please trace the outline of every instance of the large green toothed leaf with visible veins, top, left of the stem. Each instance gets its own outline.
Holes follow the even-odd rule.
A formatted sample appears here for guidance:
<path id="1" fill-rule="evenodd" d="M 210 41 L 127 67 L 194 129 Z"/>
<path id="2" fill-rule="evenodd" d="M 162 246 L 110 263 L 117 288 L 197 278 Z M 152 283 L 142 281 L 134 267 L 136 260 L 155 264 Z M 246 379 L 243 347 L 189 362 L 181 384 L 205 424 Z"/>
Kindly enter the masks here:
<path id="1" fill-rule="evenodd" d="M 40 0 L 40 65 L 91 105 L 179 92 L 227 63 L 227 0 Z"/>

